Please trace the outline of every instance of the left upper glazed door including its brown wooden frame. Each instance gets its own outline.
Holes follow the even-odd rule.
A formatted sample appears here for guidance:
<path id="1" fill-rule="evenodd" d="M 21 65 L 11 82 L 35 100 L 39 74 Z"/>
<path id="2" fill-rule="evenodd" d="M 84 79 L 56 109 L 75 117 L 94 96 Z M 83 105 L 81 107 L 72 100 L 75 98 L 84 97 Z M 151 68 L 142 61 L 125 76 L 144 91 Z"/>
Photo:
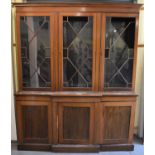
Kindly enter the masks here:
<path id="1" fill-rule="evenodd" d="M 54 15 L 17 14 L 20 89 L 53 90 Z"/>

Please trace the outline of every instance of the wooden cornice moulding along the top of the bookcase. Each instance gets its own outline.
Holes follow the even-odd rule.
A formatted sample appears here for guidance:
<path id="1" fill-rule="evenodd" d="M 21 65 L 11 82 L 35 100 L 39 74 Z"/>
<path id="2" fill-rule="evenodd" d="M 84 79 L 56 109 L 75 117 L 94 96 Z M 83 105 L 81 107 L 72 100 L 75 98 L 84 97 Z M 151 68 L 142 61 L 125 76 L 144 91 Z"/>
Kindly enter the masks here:
<path id="1" fill-rule="evenodd" d="M 103 11 L 103 12 L 138 13 L 139 10 L 142 8 L 143 4 L 132 4 L 132 3 L 12 3 L 12 6 L 18 7 L 18 8 L 47 7 L 48 9 L 50 9 L 50 7 L 51 8 L 57 7 L 59 9 L 66 8 L 66 7 L 68 9 L 82 7 L 83 10 L 80 10 L 81 12 L 85 12 L 85 11 L 102 12 Z"/>

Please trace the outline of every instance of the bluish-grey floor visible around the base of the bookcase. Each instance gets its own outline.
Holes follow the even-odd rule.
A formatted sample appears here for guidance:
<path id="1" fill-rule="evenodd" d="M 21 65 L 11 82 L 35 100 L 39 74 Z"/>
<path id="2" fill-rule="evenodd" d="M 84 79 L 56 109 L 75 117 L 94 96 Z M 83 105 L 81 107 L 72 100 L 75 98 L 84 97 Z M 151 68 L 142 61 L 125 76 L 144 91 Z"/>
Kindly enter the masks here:
<path id="1" fill-rule="evenodd" d="M 11 155 L 144 155 L 144 145 L 135 142 L 134 151 L 122 152 L 100 152 L 100 153 L 52 153 L 52 152 L 37 152 L 37 151 L 18 151 L 15 144 L 12 144 Z"/>

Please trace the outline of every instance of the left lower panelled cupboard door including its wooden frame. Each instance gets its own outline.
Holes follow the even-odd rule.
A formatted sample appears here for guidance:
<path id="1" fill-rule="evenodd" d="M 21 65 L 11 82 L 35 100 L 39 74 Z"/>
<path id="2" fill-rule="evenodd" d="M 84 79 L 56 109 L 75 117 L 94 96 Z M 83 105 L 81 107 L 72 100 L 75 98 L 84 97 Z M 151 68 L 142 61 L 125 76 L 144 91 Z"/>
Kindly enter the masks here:
<path id="1" fill-rule="evenodd" d="M 50 143 L 50 104 L 43 101 L 17 101 L 18 139 L 21 143 Z"/>

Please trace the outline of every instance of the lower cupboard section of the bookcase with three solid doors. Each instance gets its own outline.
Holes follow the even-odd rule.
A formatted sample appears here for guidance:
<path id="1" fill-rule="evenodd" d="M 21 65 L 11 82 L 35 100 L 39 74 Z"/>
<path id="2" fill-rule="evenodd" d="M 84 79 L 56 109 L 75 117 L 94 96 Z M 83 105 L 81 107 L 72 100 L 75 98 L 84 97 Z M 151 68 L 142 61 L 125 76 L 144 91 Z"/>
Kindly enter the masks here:
<path id="1" fill-rule="evenodd" d="M 114 98 L 114 97 L 113 97 Z M 133 150 L 136 98 L 16 96 L 18 148 L 55 152 Z"/>

